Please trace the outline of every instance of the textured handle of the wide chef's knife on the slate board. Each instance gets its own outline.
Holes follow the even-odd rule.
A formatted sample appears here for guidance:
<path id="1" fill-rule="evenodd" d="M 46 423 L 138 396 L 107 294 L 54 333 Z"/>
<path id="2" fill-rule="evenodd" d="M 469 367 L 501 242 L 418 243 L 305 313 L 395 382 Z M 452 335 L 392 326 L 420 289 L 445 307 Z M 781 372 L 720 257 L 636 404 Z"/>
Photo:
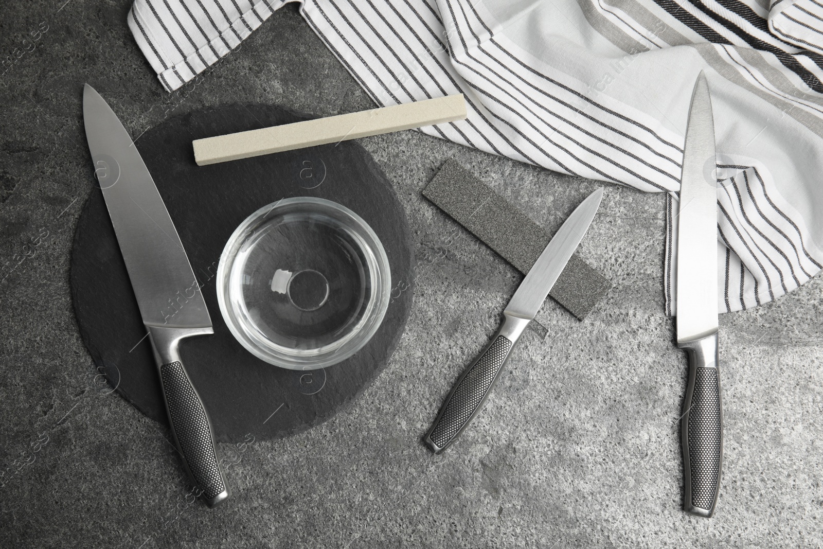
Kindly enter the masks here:
<path id="1" fill-rule="evenodd" d="M 202 492 L 209 507 L 229 497 L 226 477 L 214 440 L 212 421 L 180 360 L 179 342 L 184 337 L 214 333 L 207 328 L 166 328 L 149 326 L 151 347 L 160 370 L 163 400 L 169 414 L 171 433 L 188 476 Z"/>

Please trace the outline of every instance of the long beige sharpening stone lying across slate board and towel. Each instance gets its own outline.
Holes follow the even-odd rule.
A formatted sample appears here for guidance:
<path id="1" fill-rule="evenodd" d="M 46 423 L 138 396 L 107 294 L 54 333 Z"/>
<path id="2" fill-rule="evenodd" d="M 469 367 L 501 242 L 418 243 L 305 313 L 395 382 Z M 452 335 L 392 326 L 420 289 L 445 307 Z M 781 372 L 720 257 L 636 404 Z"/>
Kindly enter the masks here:
<path id="1" fill-rule="evenodd" d="M 236 161 L 240 158 L 314 147 L 379 133 L 398 132 L 466 118 L 463 94 L 446 95 L 404 105 L 338 114 L 248 132 L 196 139 L 194 161 L 198 165 Z"/>

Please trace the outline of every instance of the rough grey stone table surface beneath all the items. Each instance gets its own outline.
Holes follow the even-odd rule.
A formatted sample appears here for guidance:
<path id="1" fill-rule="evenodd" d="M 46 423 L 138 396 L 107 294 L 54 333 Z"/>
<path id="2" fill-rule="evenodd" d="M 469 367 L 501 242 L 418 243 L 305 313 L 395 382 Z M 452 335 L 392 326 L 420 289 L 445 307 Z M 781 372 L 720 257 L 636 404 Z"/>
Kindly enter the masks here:
<path id="1" fill-rule="evenodd" d="M 412 316 L 391 363 L 319 427 L 222 445 L 233 498 L 190 503 L 169 432 L 100 389 L 72 314 L 69 254 L 91 191 L 82 84 L 134 136 L 236 100 L 323 115 L 372 104 L 295 4 L 167 94 L 128 7 L 0 7 L 2 54 L 16 59 L 0 81 L 0 547 L 823 547 L 820 277 L 721 317 L 722 494 L 713 519 L 681 511 L 686 357 L 663 314 L 661 195 L 607 187 L 580 254 L 615 288 L 583 323 L 546 302 L 472 428 L 441 456 L 425 449 L 521 275 L 421 188 L 454 157 L 555 230 L 597 183 L 412 131 L 360 140 L 416 245 Z"/>

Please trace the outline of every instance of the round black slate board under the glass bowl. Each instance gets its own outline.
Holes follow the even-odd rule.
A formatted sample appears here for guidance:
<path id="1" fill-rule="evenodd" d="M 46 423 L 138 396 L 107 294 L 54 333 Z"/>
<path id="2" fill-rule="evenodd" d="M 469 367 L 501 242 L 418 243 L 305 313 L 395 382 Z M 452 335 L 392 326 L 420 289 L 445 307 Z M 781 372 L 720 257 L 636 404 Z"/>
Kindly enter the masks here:
<path id="1" fill-rule="evenodd" d="M 413 247 L 392 185 L 368 152 L 340 142 L 223 164 L 194 163 L 192 140 L 309 117 L 271 105 L 226 105 L 169 119 L 137 141 L 183 241 L 212 316 L 214 335 L 184 339 L 184 364 L 212 417 L 217 440 L 293 435 L 333 416 L 388 364 L 412 306 Z M 138 410 L 168 423 L 157 367 L 103 194 L 86 201 L 72 247 L 71 287 L 83 341 L 109 384 Z M 355 356 L 323 370 L 260 361 L 226 328 L 216 272 L 226 240 L 247 216 L 281 198 L 341 203 L 374 229 L 388 254 L 392 303 Z"/>

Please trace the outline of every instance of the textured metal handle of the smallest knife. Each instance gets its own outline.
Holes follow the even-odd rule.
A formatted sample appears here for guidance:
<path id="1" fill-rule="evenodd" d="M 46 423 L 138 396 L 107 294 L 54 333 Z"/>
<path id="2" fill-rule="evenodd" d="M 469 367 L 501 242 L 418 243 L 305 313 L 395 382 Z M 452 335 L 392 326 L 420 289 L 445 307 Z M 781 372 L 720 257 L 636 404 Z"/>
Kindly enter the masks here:
<path id="1" fill-rule="evenodd" d="M 435 454 L 441 453 L 457 439 L 480 412 L 491 388 L 500 378 L 514 344 L 529 323 L 528 319 L 510 314 L 504 313 L 503 317 L 500 330 L 491 338 L 491 343 L 481 356 L 463 371 L 440 408 L 435 424 L 423 439 Z"/>

